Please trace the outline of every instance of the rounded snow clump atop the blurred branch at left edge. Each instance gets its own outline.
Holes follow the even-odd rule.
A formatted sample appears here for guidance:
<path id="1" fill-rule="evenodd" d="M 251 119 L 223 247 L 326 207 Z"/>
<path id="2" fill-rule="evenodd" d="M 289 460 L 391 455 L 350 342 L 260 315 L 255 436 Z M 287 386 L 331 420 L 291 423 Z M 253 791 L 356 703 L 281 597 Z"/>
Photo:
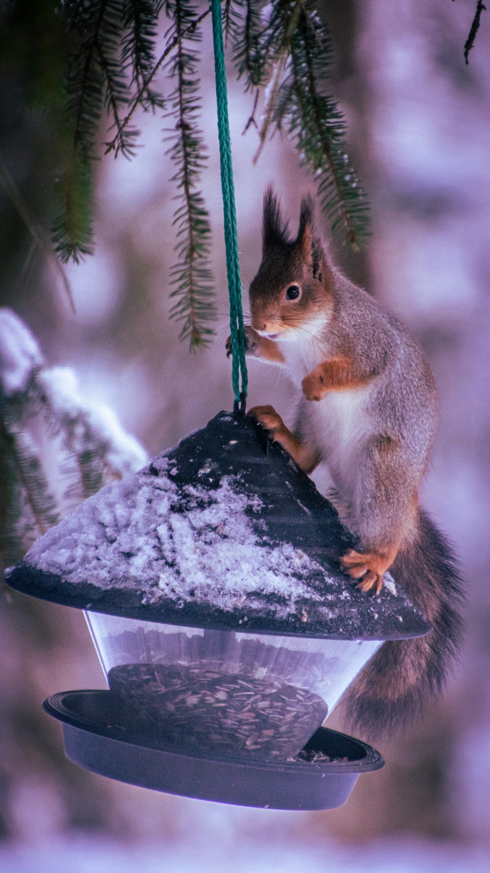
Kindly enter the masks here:
<path id="1" fill-rule="evenodd" d="M 0 384 L 10 397 L 27 388 L 32 372 L 43 366 L 38 343 L 10 309 L 0 309 Z"/>

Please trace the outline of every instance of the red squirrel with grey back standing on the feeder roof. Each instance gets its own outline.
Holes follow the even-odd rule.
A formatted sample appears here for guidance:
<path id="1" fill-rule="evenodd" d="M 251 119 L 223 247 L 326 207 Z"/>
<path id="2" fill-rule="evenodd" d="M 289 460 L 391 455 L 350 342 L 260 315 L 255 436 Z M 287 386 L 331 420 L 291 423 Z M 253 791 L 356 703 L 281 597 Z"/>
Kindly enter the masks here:
<path id="1" fill-rule="evenodd" d="M 300 389 L 293 430 L 272 406 L 249 415 L 310 474 L 327 465 L 328 496 L 358 550 L 340 564 L 366 595 L 390 572 L 431 622 L 428 636 L 383 643 L 343 698 L 349 725 L 369 737 L 422 715 L 461 636 L 462 583 L 451 547 L 418 505 L 438 393 L 418 341 L 333 265 L 302 199 L 291 237 L 266 189 L 262 261 L 250 285 L 246 354 L 286 368 Z M 226 344 L 231 354 L 231 340 Z"/>

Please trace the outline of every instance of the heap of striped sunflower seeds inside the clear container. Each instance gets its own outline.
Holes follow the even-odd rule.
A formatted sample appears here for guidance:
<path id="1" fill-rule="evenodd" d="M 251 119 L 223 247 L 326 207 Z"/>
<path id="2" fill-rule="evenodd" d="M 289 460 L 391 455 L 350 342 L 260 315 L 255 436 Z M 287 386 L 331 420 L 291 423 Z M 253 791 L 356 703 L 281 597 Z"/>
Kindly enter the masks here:
<path id="1" fill-rule="evenodd" d="M 291 758 L 327 715 L 325 701 L 305 688 L 220 674 L 206 662 L 122 664 L 108 679 L 134 732 L 230 755 Z"/>

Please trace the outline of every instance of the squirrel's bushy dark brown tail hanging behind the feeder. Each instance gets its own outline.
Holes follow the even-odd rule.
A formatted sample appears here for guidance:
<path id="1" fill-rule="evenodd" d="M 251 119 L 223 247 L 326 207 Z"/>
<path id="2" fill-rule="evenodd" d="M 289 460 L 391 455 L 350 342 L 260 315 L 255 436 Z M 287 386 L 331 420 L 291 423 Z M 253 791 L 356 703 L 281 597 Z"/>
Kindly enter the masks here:
<path id="1" fill-rule="evenodd" d="M 397 732 L 421 716 L 427 698 L 445 684 L 461 636 L 462 582 L 451 547 L 425 512 L 390 573 L 432 630 L 417 639 L 384 643 L 350 686 L 342 710 L 349 726 L 366 739 Z"/>

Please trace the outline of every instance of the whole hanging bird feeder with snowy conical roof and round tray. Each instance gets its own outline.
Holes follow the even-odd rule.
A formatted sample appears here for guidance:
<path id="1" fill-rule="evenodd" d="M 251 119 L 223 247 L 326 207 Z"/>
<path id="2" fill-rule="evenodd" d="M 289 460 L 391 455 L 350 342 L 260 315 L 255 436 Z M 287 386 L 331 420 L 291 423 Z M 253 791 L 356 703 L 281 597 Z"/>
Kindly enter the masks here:
<path id="1" fill-rule="evenodd" d="M 371 746 L 321 727 L 385 640 L 430 624 L 342 574 L 334 507 L 252 418 L 221 412 L 32 546 L 11 588 L 85 611 L 109 691 L 45 701 L 112 779 L 276 809 L 344 803 Z"/>

